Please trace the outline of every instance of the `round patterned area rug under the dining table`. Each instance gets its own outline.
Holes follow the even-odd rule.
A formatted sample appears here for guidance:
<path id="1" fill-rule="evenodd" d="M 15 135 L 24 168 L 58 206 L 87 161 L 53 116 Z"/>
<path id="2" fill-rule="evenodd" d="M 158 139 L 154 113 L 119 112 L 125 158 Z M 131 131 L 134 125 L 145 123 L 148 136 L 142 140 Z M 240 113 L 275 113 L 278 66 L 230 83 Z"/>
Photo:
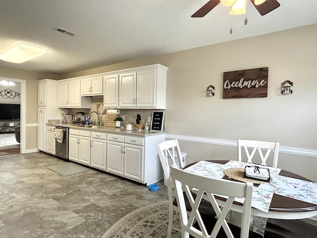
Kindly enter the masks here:
<path id="1" fill-rule="evenodd" d="M 173 217 L 174 224 L 179 224 L 179 217 Z M 125 215 L 102 238 L 166 238 L 167 227 L 168 201 L 163 201 Z M 172 230 L 172 238 L 181 238 L 181 234 Z"/>

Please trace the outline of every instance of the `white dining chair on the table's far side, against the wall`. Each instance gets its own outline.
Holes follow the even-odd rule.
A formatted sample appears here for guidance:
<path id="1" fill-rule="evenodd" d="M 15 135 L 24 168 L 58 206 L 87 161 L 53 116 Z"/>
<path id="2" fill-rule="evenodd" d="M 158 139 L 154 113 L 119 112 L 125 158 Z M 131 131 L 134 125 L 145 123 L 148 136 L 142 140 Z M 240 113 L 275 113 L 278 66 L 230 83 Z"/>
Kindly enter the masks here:
<path id="1" fill-rule="evenodd" d="M 242 148 L 244 148 L 248 163 L 252 163 L 252 159 L 256 153 L 259 152 L 260 158 L 262 160 L 262 165 L 266 165 L 266 160 L 272 150 L 274 150 L 273 154 L 273 164 L 272 167 L 277 168 L 277 160 L 278 160 L 278 150 L 279 150 L 279 143 L 278 142 L 267 142 L 267 141 L 258 141 L 258 140 L 240 140 L 238 139 L 238 160 L 242 161 Z M 249 150 L 251 149 L 251 154 Z M 266 150 L 265 155 L 263 152 Z M 255 162 L 253 162 L 255 163 Z"/>

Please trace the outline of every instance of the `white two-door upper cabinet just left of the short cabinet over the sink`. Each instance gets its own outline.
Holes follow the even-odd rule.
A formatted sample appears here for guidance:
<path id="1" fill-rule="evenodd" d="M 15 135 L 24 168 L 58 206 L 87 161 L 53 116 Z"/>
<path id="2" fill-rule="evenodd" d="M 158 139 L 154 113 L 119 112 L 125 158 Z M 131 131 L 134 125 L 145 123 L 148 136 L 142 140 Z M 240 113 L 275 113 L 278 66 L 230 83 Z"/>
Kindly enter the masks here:
<path id="1" fill-rule="evenodd" d="M 80 79 L 59 80 L 57 85 L 57 106 L 59 108 L 91 107 L 91 99 L 80 95 Z"/>

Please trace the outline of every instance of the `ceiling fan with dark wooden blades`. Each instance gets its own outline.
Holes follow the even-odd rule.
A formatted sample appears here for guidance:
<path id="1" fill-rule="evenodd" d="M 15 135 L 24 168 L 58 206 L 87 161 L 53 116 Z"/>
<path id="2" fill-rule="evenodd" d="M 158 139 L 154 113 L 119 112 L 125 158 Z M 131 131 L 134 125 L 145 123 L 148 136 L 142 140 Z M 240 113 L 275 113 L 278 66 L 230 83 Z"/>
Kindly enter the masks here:
<path id="1" fill-rule="evenodd" d="M 222 3 L 225 3 L 228 0 L 221 0 Z M 269 13 L 270 11 L 276 9 L 280 6 L 277 0 L 260 0 L 262 2 L 259 4 L 259 0 L 250 0 L 255 8 L 259 11 L 259 13 L 264 16 L 265 14 Z M 235 2 L 234 0 L 231 2 Z M 220 0 L 210 0 L 204 6 L 202 6 L 198 11 L 196 11 L 192 17 L 203 17 L 208 12 L 210 12 L 216 5 L 220 3 Z M 226 5 L 226 4 L 224 4 Z M 227 5 L 228 6 L 228 5 Z M 231 5 L 232 6 L 232 5 Z"/>

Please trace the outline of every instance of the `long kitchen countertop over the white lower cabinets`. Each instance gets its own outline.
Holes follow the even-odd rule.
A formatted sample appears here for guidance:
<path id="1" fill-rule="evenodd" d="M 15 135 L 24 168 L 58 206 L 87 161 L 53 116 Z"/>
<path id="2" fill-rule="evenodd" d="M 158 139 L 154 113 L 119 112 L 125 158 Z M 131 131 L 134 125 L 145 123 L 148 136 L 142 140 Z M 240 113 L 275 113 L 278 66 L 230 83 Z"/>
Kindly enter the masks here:
<path id="1" fill-rule="evenodd" d="M 84 125 L 78 125 L 75 123 L 61 123 L 61 122 L 50 122 L 50 121 L 46 123 L 46 125 L 64 126 L 71 129 L 98 131 L 98 132 L 105 132 L 105 133 L 116 133 L 116 134 L 122 134 L 122 135 L 133 135 L 133 136 L 142 136 L 142 137 L 165 134 L 165 132 L 160 132 L 160 131 L 157 131 L 157 132 L 150 131 L 150 130 L 138 131 L 135 128 L 132 128 L 132 130 L 126 130 L 125 128 L 115 128 L 115 127 L 105 127 L 105 126 L 85 127 Z"/>

